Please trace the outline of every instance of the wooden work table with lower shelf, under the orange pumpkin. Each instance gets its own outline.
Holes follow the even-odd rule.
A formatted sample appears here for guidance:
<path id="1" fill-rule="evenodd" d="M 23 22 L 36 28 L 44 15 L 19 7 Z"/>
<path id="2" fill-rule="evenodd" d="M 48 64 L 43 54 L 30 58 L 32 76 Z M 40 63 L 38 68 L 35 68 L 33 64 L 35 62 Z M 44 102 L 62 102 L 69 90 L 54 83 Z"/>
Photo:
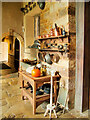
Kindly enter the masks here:
<path id="1" fill-rule="evenodd" d="M 22 88 L 22 99 L 24 100 L 24 97 L 27 97 L 32 106 L 33 106 L 33 114 L 36 113 L 36 108 L 38 105 L 40 105 L 45 100 L 48 100 L 50 98 L 50 94 L 43 94 L 43 95 L 37 95 L 36 96 L 36 90 L 38 87 L 43 85 L 44 83 L 50 82 L 51 76 L 43 76 L 43 77 L 32 77 L 29 73 L 26 71 L 19 71 L 19 78 L 21 81 L 21 88 Z M 59 78 L 59 75 L 53 76 L 54 81 L 54 103 L 56 103 L 57 100 L 57 78 Z M 25 88 L 25 82 L 29 82 L 31 86 L 33 87 L 33 93 L 26 90 Z"/>

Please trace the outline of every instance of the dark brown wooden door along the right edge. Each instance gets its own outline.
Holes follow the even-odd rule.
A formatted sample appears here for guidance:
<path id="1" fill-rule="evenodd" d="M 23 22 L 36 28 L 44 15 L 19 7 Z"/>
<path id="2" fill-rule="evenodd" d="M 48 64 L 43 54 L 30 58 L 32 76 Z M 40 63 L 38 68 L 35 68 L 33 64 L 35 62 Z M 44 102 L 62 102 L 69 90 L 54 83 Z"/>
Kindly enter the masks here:
<path id="1" fill-rule="evenodd" d="M 84 33 L 83 111 L 90 108 L 90 2 L 85 3 Z"/>

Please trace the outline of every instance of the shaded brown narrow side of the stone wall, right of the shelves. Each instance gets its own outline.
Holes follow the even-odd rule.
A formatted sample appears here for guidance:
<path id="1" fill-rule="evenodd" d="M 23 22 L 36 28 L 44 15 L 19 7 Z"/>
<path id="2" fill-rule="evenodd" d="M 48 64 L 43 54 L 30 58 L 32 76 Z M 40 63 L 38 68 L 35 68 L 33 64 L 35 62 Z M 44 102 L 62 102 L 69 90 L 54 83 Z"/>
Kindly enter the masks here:
<path id="1" fill-rule="evenodd" d="M 70 32 L 70 56 L 69 56 L 69 108 L 74 108 L 75 102 L 75 72 L 76 72 L 76 19 L 74 2 L 69 3 L 69 32 Z"/>

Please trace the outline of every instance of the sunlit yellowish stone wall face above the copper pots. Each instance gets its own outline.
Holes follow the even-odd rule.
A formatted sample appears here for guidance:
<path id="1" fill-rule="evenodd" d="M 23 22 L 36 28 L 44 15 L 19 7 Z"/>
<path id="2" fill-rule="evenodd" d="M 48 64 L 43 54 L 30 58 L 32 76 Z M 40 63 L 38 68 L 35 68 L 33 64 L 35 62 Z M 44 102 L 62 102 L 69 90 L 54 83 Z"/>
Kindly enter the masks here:
<path id="1" fill-rule="evenodd" d="M 45 9 L 40 14 L 40 34 L 48 34 L 50 29 L 58 26 L 68 25 L 68 3 L 67 2 L 47 2 Z"/>

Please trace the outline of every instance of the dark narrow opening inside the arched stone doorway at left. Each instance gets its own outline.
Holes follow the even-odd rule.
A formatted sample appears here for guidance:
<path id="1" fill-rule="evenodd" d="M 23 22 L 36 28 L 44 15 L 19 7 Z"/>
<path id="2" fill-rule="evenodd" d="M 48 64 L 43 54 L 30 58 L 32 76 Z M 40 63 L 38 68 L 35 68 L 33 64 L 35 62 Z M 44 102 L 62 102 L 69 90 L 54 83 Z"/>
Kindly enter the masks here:
<path id="1" fill-rule="evenodd" d="M 14 67 L 18 71 L 20 60 L 20 43 L 19 40 L 15 39 L 15 49 L 14 49 Z"/>

